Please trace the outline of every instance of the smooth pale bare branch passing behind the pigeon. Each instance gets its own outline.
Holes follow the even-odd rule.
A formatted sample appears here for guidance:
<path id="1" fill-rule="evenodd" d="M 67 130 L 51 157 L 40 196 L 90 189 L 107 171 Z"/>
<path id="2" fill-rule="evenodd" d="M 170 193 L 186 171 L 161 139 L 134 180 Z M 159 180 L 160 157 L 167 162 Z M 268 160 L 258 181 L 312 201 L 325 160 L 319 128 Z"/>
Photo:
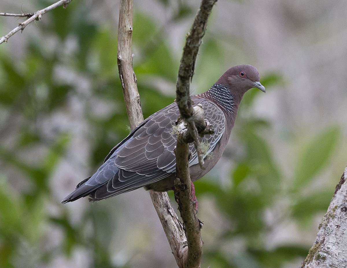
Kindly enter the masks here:
<path id="1" fill-rule="evenodd" d="M 132 18 L 133 1 L 121 0 L 118 26 L 118 70 L 130 128 L 134 129 L 142 122 L 143 115 L 136 85 L 136 77 L 132 66 Z M 150 195 L 177 265 L 183 267 L 183 259 L 187 251 L 187 240 L 183 227 L 179 222 L 175 210 L 172 208 L 168 194 L 166 192 L 159 193 L 150 190 Z"/>

